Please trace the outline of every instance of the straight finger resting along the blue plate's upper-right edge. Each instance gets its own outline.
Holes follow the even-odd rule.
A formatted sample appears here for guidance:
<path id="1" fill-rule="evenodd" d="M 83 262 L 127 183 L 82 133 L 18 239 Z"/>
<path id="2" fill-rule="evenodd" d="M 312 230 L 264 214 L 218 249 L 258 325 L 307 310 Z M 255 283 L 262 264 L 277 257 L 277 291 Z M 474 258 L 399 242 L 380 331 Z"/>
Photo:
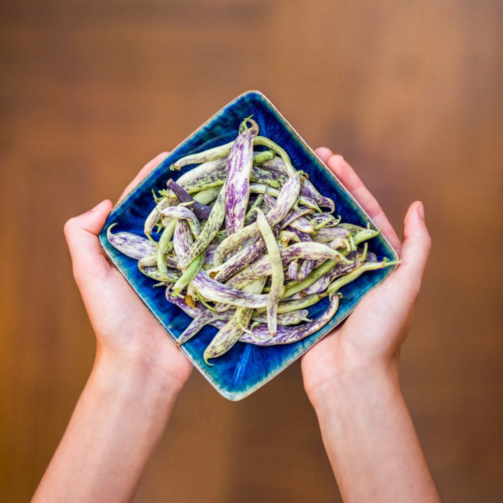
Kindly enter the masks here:
<path id="1" fill-rule="evenodd" d="M 393 248 L 400 253 L 402 245 L 397 233 L 395 233 L 395 229 L 390 224 L 388 218 L 379 206 L 379 203 L 377 203 L 374 196 L 370 194 L 363 182 L 360 180 L 360 177 L 356 175 L 351 166 L 349 166 L 349 164 L 344 161 L 344 158 L 340 155 L 330 156 L 326 164 L 344 185 L 344 187 L 351 192 L 351 195 L 356 199 L 356 201 L 360 203 L 369 217 L 381 229 L 381 232 L 386 236 L 386 238 L 388 238 Z"/>

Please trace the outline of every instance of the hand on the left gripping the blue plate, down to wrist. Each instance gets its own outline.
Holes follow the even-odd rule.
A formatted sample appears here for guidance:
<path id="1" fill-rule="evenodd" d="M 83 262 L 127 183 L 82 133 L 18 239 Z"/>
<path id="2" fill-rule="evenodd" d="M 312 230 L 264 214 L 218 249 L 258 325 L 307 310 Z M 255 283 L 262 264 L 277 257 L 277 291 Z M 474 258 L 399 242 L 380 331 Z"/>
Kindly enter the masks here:
<path id="1" fill-rule="evenodd" d="M 167 155 L 163 152 L 147 163 L 119 201 Z M 191 363 L 103 255 L 97 235 L 111 208 L 110 201 L 103 201 L 64 226 L 73 276 L 96 334 L 97 358 L 119 367 L 159 370 L 179 390 L 189 377 Z"/>

